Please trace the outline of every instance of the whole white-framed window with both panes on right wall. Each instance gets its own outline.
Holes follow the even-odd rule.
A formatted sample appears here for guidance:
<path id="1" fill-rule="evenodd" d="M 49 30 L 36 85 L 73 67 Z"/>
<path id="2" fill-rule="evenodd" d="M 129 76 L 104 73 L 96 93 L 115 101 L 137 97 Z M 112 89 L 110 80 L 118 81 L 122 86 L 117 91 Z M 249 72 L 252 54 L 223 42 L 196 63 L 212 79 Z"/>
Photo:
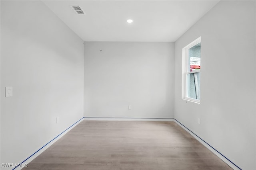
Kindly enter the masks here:
<path id="1" fill-rule="evenodd" d="M 182 49 L 182 98 L 200 103 L 201 37 Z"/>

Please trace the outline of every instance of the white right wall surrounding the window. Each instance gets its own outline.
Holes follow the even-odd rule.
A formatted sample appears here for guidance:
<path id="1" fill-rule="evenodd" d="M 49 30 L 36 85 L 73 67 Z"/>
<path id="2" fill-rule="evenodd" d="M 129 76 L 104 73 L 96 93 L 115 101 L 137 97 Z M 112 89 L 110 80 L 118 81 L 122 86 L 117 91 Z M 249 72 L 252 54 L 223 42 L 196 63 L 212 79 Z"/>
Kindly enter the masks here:
<path id="1" fill-rule="evenodd" d="M 221 1 L 175 43 L 175 119 L 243 170 L 256 169 L 255 3 Z M 181 99 L 182 48 L 200 36 L 196 104 Z"/>

